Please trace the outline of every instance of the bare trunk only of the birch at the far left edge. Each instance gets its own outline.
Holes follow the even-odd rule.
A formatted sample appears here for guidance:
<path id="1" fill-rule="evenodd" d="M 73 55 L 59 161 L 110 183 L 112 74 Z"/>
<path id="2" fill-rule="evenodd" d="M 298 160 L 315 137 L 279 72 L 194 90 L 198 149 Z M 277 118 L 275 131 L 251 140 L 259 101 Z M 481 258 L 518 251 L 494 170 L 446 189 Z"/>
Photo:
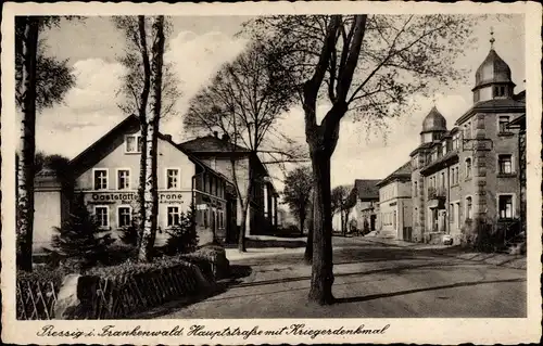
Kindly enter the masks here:
<path id="1" fill-rule="evenodd" d="M 21 121 L 21 155 L 17 170 L 17 267 L 33 269 L 34 235 L 34 156 L 36 153 L 36 62 L 38 18 L 26 17 L 23 44 L 23 71 L 20 94 L 23 95 Z"/>

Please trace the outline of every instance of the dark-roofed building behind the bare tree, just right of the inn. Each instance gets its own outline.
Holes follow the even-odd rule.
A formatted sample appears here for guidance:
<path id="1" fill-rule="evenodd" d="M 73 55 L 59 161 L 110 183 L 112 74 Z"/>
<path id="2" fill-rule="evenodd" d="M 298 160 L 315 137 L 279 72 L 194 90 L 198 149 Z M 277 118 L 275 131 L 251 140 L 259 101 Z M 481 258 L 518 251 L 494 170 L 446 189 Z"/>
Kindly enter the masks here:
<path id="1" fill-rule="evenodd" d="M 227 177 L 231 184 L 238 183 L 239 192 L 247 200 L 249 179 L 252 179 L 249 209 L 247 214 L 247 235 L 273 232 L 277 227 L 277 203 L 279 194 L 275 190 L 266 167 L 255 153 L 247 148 L 231 143 L 228 136 L 222 138 L 205 136 L 179 144 L 179 148 L 191 153 L 212 169 Z M 232 159 L 235 169 L 232 170 Z M 237 193 L 228 195 L 229 207 L 236 215 L 232 228 L 241 225 L 242 210 L 237 201 Z M 233 242 L 238 232 L 229 232 L 227 240 Z"/>

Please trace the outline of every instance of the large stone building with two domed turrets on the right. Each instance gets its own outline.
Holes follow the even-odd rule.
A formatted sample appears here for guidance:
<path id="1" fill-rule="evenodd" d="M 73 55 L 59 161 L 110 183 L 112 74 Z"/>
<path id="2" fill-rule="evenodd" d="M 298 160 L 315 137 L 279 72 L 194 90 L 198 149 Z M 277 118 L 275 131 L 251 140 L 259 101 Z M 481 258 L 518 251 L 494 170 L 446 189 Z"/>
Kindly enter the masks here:
<path id="1" fill-rule="evenodd" d="M 508 125 L 526 103 L 493 42 L 476 72 L 472 106 L 451 129 L 435 106 L 422 121 L 420 144 L 411 153 L 413 241 L 450 234 L 457 244 L 480 220 L 506 240 L 520 217 L 518 130 Z"/>

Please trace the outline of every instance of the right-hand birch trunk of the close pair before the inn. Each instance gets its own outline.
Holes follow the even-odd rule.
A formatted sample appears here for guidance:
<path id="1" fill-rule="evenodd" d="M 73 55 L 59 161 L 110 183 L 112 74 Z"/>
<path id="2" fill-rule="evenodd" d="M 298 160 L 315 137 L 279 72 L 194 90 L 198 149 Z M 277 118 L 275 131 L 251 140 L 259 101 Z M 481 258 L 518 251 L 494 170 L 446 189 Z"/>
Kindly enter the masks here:
<path id="1" fill-rule="evenodd" d="M 159 15 L 153 23 L 153 48 L 151 68 L 151 112 L 149 117 L 146 148 L 146 188 L 143 191 L 144 213 L 143 234 L 138 254 L 140 261 L 151 261 L 156 239 L 159 215 L 159 191 L 156 179 L 159 120 L 162 108 L 162 68 L 164 57 L 164 16 Z"/>

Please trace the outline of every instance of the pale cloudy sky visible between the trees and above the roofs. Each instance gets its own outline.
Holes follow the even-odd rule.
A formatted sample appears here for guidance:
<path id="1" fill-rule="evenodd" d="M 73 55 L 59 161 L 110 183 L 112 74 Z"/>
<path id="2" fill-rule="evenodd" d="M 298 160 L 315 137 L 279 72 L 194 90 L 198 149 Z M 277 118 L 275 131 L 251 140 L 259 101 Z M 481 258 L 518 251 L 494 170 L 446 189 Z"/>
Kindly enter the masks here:
<path id="1" fill-rule="evenodd" d="M 176 107 L 180 116 L 162 120 L 161 131 L 177 142 L 193 138 L 182 131 L 182 116 L 188 101 L 217 72 L 219 66 L 233 60 L 247 42 L 236 37 L 240 25 L 249 17 L 192 16 L 173 17 L 173 31 L 165 60 L 175 62 L 182 97 Z M 353 184 L 355 179 L 382 179 L 409 159 L 409 153 L 419 144 L 424 117 L 432 105 L 447 120 L 455 120 L 472 105 L 471 88 L 475 72 L 490 49 L 490 30 L 494 29 L 494 49 L 512 68 L 515 92 L 525 89 L 525 33 L 520 15 L 479 21 L 473 28 L 475 44 L 467 47 L 465 56 L 456 64 L 468 71 L 468 84 L 443 87 L 433 98 L 413 94 L 409 101 L 416 110 L 388 121 L 387 136 L 374 133 L 349 114 L 341 121 L 340 139 L 332 156 L 332 185 Z M 121 121 L 116 94 L 125 73 L 117 57 L 124 52 L 124 38 L 109 17 L 88 17 L 84 22 L 63 22 L 43 35 L 47 54 L 67 60 L 76 76 L 76 86 L 64 102 L 45 110 L 37 120 L 37 150 L 74 157 Z M 432 100 L 434 99 L 434 100 Z M 317 114 L 326 112 L 326 105 Z M 281 116 L 279 127 L 286 134 L 305 142 L 303 112 L 295 106 Z M 369 133 L 369 134 L 368 134 Z M 269 167 L 272 175 L 281 172 Z M 280 179 L 276 188 L 282 190 Z"/>

